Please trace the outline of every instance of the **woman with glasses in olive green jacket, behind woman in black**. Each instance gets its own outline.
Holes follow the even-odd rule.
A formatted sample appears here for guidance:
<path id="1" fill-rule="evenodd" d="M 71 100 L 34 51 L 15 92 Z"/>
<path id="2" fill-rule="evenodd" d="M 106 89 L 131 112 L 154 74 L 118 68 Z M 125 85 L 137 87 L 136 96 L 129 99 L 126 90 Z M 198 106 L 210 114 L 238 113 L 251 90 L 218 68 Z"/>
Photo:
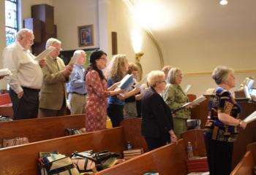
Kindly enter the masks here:
<path id="1" fill-rule="evenodd" d="M 170 85 L 167 85 L 162 97 L 172 111 L 189 102 L 187 95 L 180 86 L 182 78 L 183 74 L 179 68 L 172 68 L 168 72 L 167 83 L 170 83 Z M 179 137 L 182 132 L 187 131 L 187 120 L 190 119 L 190 117 L 189 106 L 175 112 L 175 115 L 173 115 L 173 125 L 176 136 Z"/>

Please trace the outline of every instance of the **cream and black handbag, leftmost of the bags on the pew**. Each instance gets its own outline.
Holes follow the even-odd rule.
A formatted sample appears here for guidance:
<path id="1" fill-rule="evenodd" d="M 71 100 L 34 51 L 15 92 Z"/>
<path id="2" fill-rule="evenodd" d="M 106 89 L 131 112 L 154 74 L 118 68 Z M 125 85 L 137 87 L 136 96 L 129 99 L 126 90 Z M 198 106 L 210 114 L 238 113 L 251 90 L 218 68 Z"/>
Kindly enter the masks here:
<path id="1" fill-rule="evenodd" d="M 79 175 L 78 169 L 72 163 L 72 160 L 65 156 L 57 160 L 43 163 L 47 158 L 39 159 L 39 166 L 42 175 Z"/>

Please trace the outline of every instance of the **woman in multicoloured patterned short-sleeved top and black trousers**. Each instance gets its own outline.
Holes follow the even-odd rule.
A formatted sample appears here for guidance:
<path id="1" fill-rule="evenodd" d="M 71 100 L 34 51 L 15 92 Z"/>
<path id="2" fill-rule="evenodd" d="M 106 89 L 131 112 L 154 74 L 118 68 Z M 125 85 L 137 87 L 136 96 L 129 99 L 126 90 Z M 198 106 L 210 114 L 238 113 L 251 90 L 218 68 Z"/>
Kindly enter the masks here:
<path id="1" fill-rule="evenodd" d="M 219 86 L 209 101 L 210 118 L 206 122 L 205 141 L 211 175 L 230 174 L 233 143 L 238 136 L 238 126 L 246 128 L 239 119 L 240 107 L 229 90 L 235 87 L 233 69 L 217 66 L 212 78 Z"/>

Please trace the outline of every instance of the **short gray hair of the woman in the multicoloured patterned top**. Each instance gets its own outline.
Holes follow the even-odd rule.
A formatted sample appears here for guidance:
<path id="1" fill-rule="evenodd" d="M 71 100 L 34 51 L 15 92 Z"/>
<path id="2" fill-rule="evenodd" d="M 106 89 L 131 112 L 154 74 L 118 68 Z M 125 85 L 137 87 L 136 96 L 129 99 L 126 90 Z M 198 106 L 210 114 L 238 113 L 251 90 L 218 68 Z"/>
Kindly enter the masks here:
<path id="1" fill-rule="evenodd" d="M 217 66 L 212 72 L 211 77 L 214 79 L 216 84 L 219 85 L 227 80 L 227 76 L 230 72 L 234 72 L 234 70 L 227 66 Z"/>

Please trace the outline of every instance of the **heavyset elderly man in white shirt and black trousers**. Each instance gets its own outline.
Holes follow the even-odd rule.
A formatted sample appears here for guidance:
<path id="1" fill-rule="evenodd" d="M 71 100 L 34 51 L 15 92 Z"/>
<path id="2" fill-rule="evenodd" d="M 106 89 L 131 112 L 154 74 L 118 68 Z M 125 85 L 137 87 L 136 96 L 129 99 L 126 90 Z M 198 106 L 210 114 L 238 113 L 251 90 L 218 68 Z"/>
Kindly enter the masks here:
<path id="1" fill-rule="evenodd" d="M 34 44 L 34 34 L 23 28 L 18 31 L 16 42 L 5 47 L 3 52 L 4 68 L 10 69 L 12 75 L 5 77 L 10 85 L 13 120 L 37 117 L 39 90 L 42 86 L 44 60 L 34 60 L 30 48 Z"/>

